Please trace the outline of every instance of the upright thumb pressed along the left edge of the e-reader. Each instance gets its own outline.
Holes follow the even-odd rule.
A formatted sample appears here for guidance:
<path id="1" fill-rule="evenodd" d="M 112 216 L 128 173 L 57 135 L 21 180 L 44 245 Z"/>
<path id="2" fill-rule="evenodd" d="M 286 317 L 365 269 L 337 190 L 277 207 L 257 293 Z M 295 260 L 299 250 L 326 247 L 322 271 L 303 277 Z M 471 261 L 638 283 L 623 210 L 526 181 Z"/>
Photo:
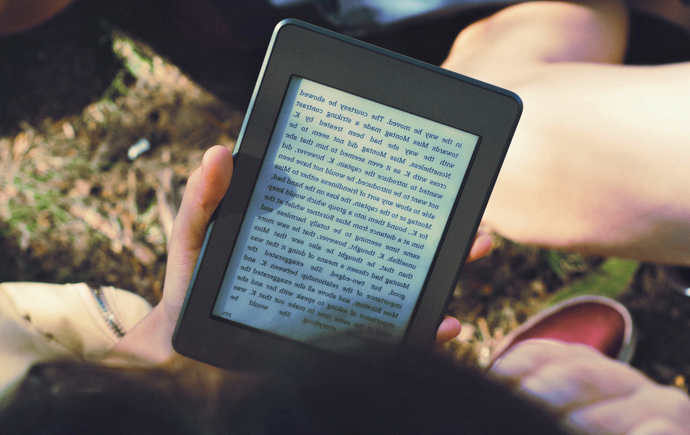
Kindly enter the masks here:
<path id="1" fill-rule="evenodd" d="M 232 176 L 232 155 L 223 146 L 204 154 L 192 173 L 173 224 L 163 301 L 177 316 L 204 243 L 211 215 L 225 195 Z"/>

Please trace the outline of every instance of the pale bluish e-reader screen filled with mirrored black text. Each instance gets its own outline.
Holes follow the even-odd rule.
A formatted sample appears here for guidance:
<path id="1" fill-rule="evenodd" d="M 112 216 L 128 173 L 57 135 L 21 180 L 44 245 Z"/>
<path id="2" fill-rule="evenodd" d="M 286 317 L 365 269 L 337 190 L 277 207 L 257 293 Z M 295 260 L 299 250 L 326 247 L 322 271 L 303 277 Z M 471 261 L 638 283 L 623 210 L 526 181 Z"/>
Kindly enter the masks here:
<path id="1" fill-rule="evenodd" d="M 478 141 L 293 77 L 212 314 L 399 344 Z"/>

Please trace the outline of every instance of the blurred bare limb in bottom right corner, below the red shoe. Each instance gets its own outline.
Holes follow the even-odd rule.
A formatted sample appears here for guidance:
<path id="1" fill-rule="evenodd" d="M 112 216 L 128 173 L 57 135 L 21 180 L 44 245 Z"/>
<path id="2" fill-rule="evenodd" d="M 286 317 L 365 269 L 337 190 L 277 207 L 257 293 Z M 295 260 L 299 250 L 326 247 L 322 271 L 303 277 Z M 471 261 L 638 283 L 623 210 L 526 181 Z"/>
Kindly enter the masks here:
<path id="1" fill-rule="evenodd" d="M 576 433 L 690 434 L 687 394 L 584 345 L 525 341 L 491 375 Z"/>

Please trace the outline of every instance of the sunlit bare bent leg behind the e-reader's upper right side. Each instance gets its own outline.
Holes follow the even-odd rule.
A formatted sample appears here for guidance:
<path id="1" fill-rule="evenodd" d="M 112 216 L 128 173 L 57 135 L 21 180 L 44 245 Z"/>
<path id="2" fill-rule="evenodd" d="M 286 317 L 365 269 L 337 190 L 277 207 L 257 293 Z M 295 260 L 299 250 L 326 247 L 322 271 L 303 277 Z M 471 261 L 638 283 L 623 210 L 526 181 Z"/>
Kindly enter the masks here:
<path id="1" fill-rule="evenodd" d="M 462 32 L 444 67 L 524 112 L 484 216 L 519 242 L 690 264 L 690 63 L 615 65 L 619 1 L 537 2 Z"/>

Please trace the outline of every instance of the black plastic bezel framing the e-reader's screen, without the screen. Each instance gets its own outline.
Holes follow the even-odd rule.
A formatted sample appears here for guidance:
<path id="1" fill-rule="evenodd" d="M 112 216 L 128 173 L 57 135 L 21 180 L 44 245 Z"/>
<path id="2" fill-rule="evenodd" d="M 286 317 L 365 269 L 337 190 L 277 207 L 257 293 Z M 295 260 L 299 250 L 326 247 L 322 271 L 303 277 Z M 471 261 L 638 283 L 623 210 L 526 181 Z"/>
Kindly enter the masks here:
<path id="1" fill-rule="evenodd" d="M 402 347 L 434 343 L 522 111 L 509 91 L 296 20 L 278 24 L 173 337 L 180 354 L 255 370 L 330 354 L 211 315 L 290 79 L 306 78 L 480 137 Z"/>

